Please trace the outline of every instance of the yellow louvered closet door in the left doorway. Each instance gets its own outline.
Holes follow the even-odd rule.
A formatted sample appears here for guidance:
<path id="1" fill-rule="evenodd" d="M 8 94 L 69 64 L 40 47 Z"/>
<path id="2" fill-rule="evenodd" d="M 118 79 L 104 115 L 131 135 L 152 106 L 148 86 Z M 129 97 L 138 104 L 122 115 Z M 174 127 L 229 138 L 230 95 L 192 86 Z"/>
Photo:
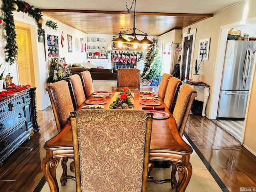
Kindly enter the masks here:
<path id="1" fill-rule="evenodd" d="M 16 40 L 19 46 L 18 71 L 20 84 L 31 85 L 27 32 L 25 30 L 17 30 Z"/>

